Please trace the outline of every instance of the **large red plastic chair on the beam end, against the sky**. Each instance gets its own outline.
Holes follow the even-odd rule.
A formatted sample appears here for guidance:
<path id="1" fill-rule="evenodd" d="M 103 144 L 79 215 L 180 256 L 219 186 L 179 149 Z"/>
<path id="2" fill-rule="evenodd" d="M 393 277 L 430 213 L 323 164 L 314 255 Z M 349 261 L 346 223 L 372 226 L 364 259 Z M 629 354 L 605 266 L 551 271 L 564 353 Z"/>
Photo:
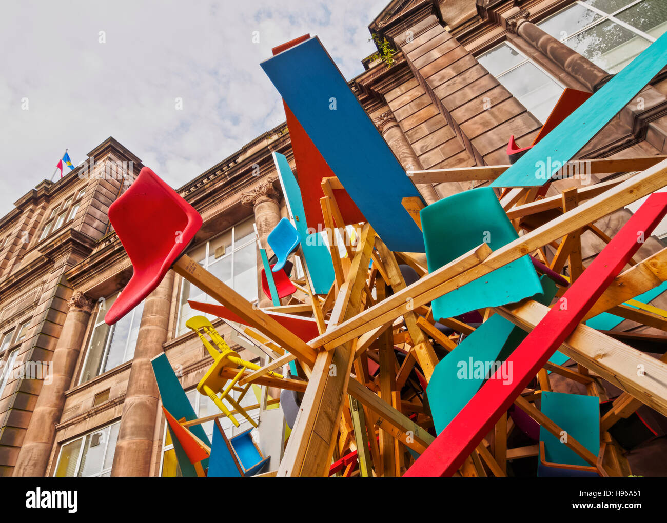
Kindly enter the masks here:
<path id="1" fill-rule="evenodd" d="M 201 227 L 201 216 L 148 167 L 109 207 L 134 273 L 104 316 L 113 325 L 159 285 Z"/>

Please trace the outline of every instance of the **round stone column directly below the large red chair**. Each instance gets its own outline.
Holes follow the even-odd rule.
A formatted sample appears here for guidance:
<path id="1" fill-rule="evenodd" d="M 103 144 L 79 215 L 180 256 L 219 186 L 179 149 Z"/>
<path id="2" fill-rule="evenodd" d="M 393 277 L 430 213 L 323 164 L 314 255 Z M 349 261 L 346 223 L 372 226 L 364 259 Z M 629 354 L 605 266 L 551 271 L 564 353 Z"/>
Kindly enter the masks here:
<path id="1" fill-rule="evenodd" d="M 143 305 L 111 476 L 148 476 L 150 472 L 159 397 L 151 358 L 162 352 L 167 341 L 173 275 L 169 270 Z"/>

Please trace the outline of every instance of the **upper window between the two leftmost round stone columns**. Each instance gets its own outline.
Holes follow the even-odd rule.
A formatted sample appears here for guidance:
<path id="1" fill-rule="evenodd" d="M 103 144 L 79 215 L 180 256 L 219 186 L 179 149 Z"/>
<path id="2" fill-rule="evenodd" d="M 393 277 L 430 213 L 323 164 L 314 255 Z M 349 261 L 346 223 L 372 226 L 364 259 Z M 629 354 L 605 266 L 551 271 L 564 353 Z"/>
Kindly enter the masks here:
<path id="1" fill-rule="evenodd" d="M 109 326 L 104 322 L 104 315 L 117 297 L 118 293 L 113 294 L 99 304 L 79 383 L 87 382 L 134 357 L 144 302 Z"/>

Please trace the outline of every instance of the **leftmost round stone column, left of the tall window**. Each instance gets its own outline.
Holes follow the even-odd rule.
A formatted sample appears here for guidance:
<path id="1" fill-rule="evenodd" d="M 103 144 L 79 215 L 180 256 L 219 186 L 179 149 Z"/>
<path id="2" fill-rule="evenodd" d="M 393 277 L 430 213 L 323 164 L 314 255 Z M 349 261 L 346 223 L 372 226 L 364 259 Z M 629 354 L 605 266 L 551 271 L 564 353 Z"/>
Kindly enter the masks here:
<path id="1" fill-rule="evenodd" d="M 14 476 L 44 476 L 46 474 L 55 425 L 60 421 L 65 405 L 65 391 L 69 389 L 79 358 L 83 336 L 88 326 L 95 300 L 78 290 L 67 301 L 69 311 L 65 316 L 63 330 L 53 351 L 51 383 L 45 383 L 14 468 Z"/>

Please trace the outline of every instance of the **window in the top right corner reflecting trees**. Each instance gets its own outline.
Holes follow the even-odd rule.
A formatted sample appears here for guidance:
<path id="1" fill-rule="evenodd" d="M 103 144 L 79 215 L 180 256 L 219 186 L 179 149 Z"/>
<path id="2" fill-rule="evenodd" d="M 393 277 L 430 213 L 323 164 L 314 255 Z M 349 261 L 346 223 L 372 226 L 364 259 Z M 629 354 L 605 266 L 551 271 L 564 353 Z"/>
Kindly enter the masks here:
<path id="1" fill-rule="evenodd" d="M 578 0 L 538 27 L 608 73 L 618 73 L 667 30 L 667 2 Z"/>

